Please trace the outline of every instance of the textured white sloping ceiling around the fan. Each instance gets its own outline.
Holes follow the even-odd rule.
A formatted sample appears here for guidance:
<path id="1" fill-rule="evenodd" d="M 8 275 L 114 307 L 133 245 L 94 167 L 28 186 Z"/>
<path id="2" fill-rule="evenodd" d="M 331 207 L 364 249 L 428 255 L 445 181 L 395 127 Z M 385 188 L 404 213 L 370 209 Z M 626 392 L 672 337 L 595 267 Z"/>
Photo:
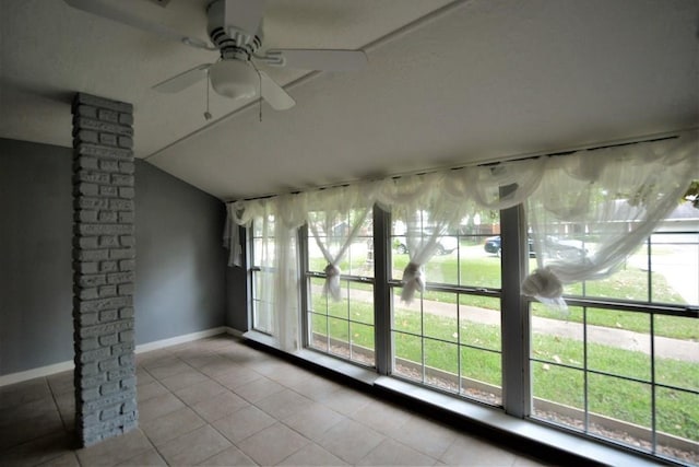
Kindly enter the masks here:
<path id="1" fill-rule="evenodd" d="M 206 0 L 95 1 L 205 37 Z M 215 54 L 59 0 L 0 2 L 0 137 L 70 145 L 75 91 L 131 102 L 137 155 L 222 199 L 699 125 L 696 0 L 270 0 L 265 47 L 365 48 L 369 65 L 270 70 L 301 78 L 296 107 L 259 121 L 212 93 L 213 124 L 203 83 L 150 87 Z"/>

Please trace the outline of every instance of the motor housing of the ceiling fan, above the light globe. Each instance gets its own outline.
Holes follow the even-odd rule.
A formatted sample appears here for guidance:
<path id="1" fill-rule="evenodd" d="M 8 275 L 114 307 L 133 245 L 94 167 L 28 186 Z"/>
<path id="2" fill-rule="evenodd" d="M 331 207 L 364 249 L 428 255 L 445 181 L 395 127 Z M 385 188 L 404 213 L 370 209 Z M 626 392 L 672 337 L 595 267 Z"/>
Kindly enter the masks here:
<path id="1" fill-rule="evenodd" d="M 262 46 L 262 21 L 257 31 L 246 31 L 236 24 L 226 24 L 226 8 L 234 2 L 214 0 L 209 4 L 208 32 L 211 42 L 221 50 L 222 59 L 250 60 L 252 54 Z"/>

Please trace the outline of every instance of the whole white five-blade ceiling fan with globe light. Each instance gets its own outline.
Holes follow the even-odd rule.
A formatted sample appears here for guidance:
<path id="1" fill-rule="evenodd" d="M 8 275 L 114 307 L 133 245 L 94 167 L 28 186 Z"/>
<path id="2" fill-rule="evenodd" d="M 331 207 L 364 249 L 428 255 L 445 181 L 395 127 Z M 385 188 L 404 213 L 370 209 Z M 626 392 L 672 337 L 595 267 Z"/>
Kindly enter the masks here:
<path id="1" fill-rule="evenodd" d="M 208 33 L 211 44 L 185 36 L 158 23 L 95 0 L 64 0 L 69 5 L 87 13 L 178 40 L 187 46 L 218 50 L 213 63 L 202 63 L 153 86 L 164 93 L 177 93 L 209 78 L 217 94 L 230 98 L 248 98 L 259 93 L 272 108 L 285 110 L 296 102 L 256 61 L 306 70 L 351 71 L 362 68 L 367 58 L 362 50 L 336 49 L 269 49 L 258 55 L 262 46 L 264 0 L 212 0 L 206 7 Z"/>

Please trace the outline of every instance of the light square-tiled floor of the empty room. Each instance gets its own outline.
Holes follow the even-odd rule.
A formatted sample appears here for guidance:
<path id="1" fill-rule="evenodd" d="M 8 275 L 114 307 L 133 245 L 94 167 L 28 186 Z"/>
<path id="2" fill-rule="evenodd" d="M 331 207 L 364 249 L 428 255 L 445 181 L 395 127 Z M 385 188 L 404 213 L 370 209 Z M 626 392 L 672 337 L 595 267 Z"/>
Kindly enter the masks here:
<path id="1" fill-rule="evenodd" d="M 138 399 L 78 450 L 72 372 L 2 387 L 0 465 L 543 465 L 225 335 L 139 354 Z"/>

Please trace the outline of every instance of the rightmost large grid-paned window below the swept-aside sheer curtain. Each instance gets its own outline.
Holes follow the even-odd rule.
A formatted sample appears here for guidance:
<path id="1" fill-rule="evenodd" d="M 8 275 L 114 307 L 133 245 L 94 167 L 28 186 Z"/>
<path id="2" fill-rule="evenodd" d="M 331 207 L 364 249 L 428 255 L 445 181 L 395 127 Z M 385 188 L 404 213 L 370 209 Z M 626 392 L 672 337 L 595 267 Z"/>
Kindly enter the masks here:
<path id="1" fill-rule="evenodd" d="M 594 250 L 578 232 L 560 242 Z M 696 463 L 698 261 L 697 221 L 668 220 L 609 278 L 566 287 L 567 314 L 532 303 L 532 417 Z"/>

